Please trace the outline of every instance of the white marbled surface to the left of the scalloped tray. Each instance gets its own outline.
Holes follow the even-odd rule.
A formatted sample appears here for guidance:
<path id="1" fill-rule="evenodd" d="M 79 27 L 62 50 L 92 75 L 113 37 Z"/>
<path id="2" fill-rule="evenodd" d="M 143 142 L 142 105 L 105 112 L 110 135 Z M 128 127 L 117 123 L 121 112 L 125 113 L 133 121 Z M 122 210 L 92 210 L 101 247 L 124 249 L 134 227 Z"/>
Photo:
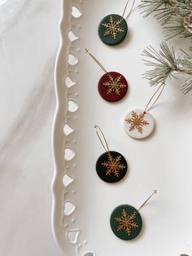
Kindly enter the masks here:
<path id="1" fill-rule="evenodd" d="M 0 255 L 59 256 L 51 126 L 60 0 L 0 0 Z"/>

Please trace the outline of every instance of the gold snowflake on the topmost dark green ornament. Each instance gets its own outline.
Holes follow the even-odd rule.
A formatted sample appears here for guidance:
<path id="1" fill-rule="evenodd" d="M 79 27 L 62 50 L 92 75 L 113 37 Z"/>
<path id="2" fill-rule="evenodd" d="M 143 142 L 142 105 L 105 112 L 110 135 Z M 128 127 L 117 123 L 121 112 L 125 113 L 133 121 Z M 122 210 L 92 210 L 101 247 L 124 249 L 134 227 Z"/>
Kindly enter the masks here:
<path id="1" fill-rule="evenodd" d="M 124 29 L 120 27 L 123 19 L 115 20 L 113 16 L 110 16 L 108 23 L 103 23 L 103 27 L 106 29 L 104 36 L 112 36 L 116 40 L 118 33 L 123 33 Z"/>

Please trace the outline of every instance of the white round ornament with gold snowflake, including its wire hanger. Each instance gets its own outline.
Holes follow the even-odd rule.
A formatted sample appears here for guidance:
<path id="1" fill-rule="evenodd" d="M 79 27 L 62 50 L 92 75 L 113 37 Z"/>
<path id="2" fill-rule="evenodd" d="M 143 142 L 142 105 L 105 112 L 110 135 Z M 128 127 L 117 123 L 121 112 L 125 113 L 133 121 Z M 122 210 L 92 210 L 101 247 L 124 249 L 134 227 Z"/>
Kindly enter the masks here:
<path id="1" fill-rule="evenodd" d="M 149 110 L 155 105 L 163 90 L 164 84 L 155 91 L 145 109 L 136 108 L 127 113 L 124 117 L 124 131 L 127 135 L 134 139 L 144 139 L 151 135 L 155 128 L 155 120 Z M 154 103 L 151 104 L 153 99 Z"/>

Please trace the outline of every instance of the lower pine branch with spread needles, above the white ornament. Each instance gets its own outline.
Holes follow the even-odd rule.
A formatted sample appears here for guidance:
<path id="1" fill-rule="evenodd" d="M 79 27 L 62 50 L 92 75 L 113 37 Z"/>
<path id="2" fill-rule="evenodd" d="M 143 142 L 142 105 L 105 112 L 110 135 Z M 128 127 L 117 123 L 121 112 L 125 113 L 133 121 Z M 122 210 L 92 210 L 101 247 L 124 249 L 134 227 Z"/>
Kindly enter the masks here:
<path id="1" fill-rule="evenodd" d="M 175 48 L 169 47 L 166 42 L 160 45 L 160 51 L 156 51 L 152 46 L 143 51 L 144 62 L 151 70 L 143 75 L 151 86 L 163 84 L 167 79 L 172 79 L 175 74 L 185 74 L 189 76 L 181 90 L 184 94 L 192 90 L 192 56 L 184 51 L 181 56 L 176 56 Z M 182 57 L 182 58 L 181 58 Z"/>

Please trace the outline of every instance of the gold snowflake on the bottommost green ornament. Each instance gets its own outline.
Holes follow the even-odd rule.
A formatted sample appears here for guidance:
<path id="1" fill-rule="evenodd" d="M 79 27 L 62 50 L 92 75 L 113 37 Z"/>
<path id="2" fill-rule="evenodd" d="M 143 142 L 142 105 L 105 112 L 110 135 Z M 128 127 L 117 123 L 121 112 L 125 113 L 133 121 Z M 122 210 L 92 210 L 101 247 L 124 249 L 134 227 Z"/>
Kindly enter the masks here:
<path id="1" fill-rule="evenodd" d="M 125 231 L 128 236 L 131 236 L 132 229 L 138 227 L 137 223 L 134 221 L 136 216 L 136 211 L 129 215 L 127 210 L 122 210 L 121 217 L 115 218 L 116 223 L 119 223 L 117 232 Z"/>

